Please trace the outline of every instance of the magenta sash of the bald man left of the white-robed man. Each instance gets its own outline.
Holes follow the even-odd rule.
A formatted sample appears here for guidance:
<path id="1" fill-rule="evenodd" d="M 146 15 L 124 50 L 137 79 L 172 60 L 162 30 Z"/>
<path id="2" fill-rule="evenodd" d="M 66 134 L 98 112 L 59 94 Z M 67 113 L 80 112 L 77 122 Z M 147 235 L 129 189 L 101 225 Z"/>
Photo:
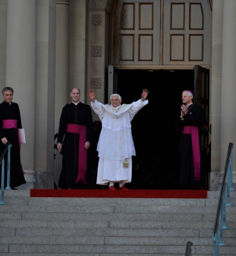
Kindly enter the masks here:
<path id="1" fill-rule="evenodd" d="M 67 132 L 79 134 L 79 170 L 75 183 L 82 182 L 86 184 L 87 150 L 84 148 L 84 145 L 86 143 L 86 126 L 67 124 Z"/>

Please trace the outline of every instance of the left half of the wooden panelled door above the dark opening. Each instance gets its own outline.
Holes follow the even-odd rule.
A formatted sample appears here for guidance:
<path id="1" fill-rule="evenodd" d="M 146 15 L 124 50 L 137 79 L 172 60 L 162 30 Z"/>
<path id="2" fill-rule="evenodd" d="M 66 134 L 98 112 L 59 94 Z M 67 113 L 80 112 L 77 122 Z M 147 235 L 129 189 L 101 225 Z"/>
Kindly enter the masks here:
<path id="1" fill-rule="evenodd" d="M 160 65 L 161 0 L 123 0 L 114 5 L 111 63 Z"/>

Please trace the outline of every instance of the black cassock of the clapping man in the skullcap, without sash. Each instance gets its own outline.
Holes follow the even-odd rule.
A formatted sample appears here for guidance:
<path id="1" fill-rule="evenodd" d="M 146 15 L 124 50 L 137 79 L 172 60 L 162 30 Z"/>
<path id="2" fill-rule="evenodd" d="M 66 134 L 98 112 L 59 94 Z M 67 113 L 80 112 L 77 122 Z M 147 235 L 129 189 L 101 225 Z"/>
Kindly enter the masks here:
<path id="1" fill-rule="evenodd" d="M 190 105 L 184 120 L 180 118 L 181 110 L 175 122 L 175 129 L 182 131 L 184 126 L 202 127 L 207 124 L 203 109 L 198 105 Z M 200 146 L 201 151 L 201 146 Z M 201 152 L 200 152 L 201 156 Z M 202 170 L 202 161 L 201 161 Z M 180 136 L 180 184 L 194 184 L 193 148 L 191 134 Z"/>

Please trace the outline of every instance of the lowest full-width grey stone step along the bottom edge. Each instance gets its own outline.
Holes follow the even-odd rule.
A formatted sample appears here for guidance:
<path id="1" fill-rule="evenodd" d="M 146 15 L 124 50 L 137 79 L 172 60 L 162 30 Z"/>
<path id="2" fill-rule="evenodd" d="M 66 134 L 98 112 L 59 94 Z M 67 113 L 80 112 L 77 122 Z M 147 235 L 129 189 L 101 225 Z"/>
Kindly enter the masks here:
<path id="1" fill-rule="evenodd" d="M 88 255 L 184 255 L 185 246 L 132 246 L 132 245 L 64 245 L 64 244 L 2 244 L 0 246 L 0 252 L 2 253 L 67 253 L 67 255 L 76 253 L 84 253 L 84 256 Z M 70 253 L 68 253 L 70 252 Z M 212 255 L 212 246 L 193 246 L 193 255 Z M 221 246 L 220 255 L 235 255 L 235 246 Z"/>

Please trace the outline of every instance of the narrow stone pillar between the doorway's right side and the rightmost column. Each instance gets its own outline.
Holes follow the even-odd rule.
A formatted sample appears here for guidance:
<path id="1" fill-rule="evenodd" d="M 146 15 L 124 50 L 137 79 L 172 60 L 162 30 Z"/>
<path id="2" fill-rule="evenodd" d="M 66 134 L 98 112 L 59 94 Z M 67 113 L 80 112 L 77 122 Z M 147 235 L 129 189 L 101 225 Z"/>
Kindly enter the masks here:
<path id="1" fill-rule="evenodd" d="M 214 0 L 212 8 L 212 61 L 210 68 L 210 112 L 212 124 L 212 157 L 210 190 L 216 190 L 221 165 L 221 83 L 222 83 L 222 44 L 223 11 L 222 0 Z"/>

